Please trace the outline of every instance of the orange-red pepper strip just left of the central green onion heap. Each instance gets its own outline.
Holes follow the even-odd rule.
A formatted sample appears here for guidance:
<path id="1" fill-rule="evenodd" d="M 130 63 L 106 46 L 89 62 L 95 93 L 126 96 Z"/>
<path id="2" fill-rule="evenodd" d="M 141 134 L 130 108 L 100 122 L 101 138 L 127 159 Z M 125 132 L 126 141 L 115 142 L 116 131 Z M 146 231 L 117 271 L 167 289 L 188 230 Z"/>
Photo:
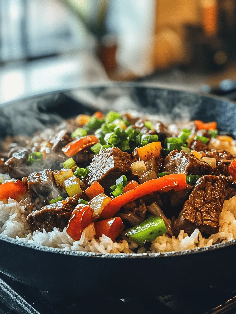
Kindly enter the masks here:
<path id="1" fill-rule="evenodd" d="M 96 136 L 87 135 L 68 143 L 66 146 L 62 147 L 61 150 L 67 157 L 72 157 L 80 152 L 82 149 L 97 143 L 98 139 L 96 138 Z"/>

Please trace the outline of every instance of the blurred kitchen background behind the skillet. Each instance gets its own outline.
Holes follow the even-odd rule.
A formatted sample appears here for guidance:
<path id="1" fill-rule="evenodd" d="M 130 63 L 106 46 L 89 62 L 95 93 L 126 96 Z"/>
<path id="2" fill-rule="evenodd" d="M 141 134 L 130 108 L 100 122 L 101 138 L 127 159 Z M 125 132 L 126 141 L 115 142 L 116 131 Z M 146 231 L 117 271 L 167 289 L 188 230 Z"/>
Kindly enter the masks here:
<path id="1" fill-rule="evenodd" d="M 236 99 L 235 34 L 236 0 L 0 0 L 0 103 L 110 80 Z"/>

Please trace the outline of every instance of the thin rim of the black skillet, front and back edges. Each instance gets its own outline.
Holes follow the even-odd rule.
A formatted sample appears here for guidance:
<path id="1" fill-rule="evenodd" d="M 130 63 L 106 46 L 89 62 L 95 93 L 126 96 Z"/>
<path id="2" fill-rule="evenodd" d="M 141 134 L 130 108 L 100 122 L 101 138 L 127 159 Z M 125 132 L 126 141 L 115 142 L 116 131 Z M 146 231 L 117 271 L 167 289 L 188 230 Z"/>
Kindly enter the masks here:
<path id="1" fill-rule="evenodd" d="M 221 100 L 221 101 L 226 101 L 228 103 L 236 105 L 235 101 L 228 100 L 227 98 L 224 97 L 219 97 L 215 95 L 210 95 L 207 93 L 203 92 L 192 92 L 192 91 L 187 91 L 184 89 L 177 89 L 177 88 L 170 88 L 170 87 L 165 87 L 162 84 L 156 84 L 152 82 L 101 82 L 101 83 L 91 83 L 91 84 L 81 84 L 79 85 L 76 89 L 63 89 L 63 90 L 55 90 L 55 91 L 50 91 L 50 92 L 45 92 L 41 93 L 38 95 L 33 95 L 33 96 L 26 96 L 19 98 L 17 100 L 9 101 L 6 103 L 0 104 L 0 108 L 4 106 L 8 106 L 14 103 L 17 103 L 18 101 L 25 101 L 25 100 L 30 100 L 30 99 L 35 99 L 41 96 L 46 96 L 46 95 L 52 95 L 52 94 L 59 94 L 59 93 L 71 93 L 73 91 L 79 90 L 79 89 L 88 89 L 88 88 L 101 88 L 101 87 L 139 87 L 139 88 L 154 88 L 154 89 L 163 89 L 163 90 L 174 90 L 177 92 L 184 92 L 188 94 L 193 94 L 193 95 L 203 95 L 205 97 L 209 97 L 215 100 Z M 70 95 L 72 96 L 72 95 Z M 72 96 L 74 98 L 74 96 Z M 97 253 L 97 252 L 87 252 L 87 251 L 65 251 L 63 249 L 59 248 L 53 248 L 53 247 L 48 247 L 48 246 L 42 246 L 42 245 L 36 245 L 33 243 L 28 243 L 28 242 L 23 242 L 18 239 L 11 238 L 6 235 L 1 235 L 0 234 L 0 241 L 8 242 L 13 245 L 18 245 L 18 246 L 23 246 L 28 249 L 33 249 L 33 250 L 38 250 L 38 251 L 43 251 L 47 253 L 55 253 L 55 254 L 62 254 L 62 255 L 70 255 L 70 256 L 80 256 L 80 257 L 96 257 L 96 258 L 159 258 L 159 257 L 175 257 L 175 256 L 185 256 L 185 255 L 191 255 L 191 254 L 197 254 L 197 253 L 203 253 L 203 252 L 209 252 L 209 251 L 214 251 L 214 250 L 219 250 L 223 249 L 224 247 L 228 246 L 233 246 L 236 244 L 236 240 L 229 240 L 226 242 L 214 244 L 212 246 L 204 246 L 204 247 L 198 247 L 193 250 L 184 250 L 184 251 L 174 251 L 174 252 L 159 252 L 159 253 Z"/>

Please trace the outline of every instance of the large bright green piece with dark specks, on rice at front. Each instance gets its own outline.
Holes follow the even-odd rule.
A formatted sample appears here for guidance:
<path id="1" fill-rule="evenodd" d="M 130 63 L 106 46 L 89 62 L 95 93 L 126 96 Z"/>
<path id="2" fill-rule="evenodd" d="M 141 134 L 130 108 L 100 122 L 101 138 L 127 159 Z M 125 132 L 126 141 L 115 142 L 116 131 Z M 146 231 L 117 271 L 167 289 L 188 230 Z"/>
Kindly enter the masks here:
<path id="1" fill-rule="evenodd" d="M 146 241 L 153 241 L 158 236 L 163 235 L 167 231 L 163 219 L 157 216 L 151 216 L 141 222 L 141 224 L 134 226 L 125 231 L 128 238 L 139 245 L 143 245 Z"/>

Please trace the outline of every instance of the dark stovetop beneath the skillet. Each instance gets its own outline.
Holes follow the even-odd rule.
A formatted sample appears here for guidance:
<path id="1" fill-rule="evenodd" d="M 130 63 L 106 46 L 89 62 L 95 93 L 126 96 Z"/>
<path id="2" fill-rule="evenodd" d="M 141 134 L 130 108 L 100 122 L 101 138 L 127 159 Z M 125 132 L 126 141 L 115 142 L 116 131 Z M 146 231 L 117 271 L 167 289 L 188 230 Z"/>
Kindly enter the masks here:
<path id="1" fill-rule="evenodd" d="M 211 286 L 159 297 L 63 296 L 33 289 L 0 274 L 0 314 L 210 314 L 236 313 L 236 290 Z"/>

